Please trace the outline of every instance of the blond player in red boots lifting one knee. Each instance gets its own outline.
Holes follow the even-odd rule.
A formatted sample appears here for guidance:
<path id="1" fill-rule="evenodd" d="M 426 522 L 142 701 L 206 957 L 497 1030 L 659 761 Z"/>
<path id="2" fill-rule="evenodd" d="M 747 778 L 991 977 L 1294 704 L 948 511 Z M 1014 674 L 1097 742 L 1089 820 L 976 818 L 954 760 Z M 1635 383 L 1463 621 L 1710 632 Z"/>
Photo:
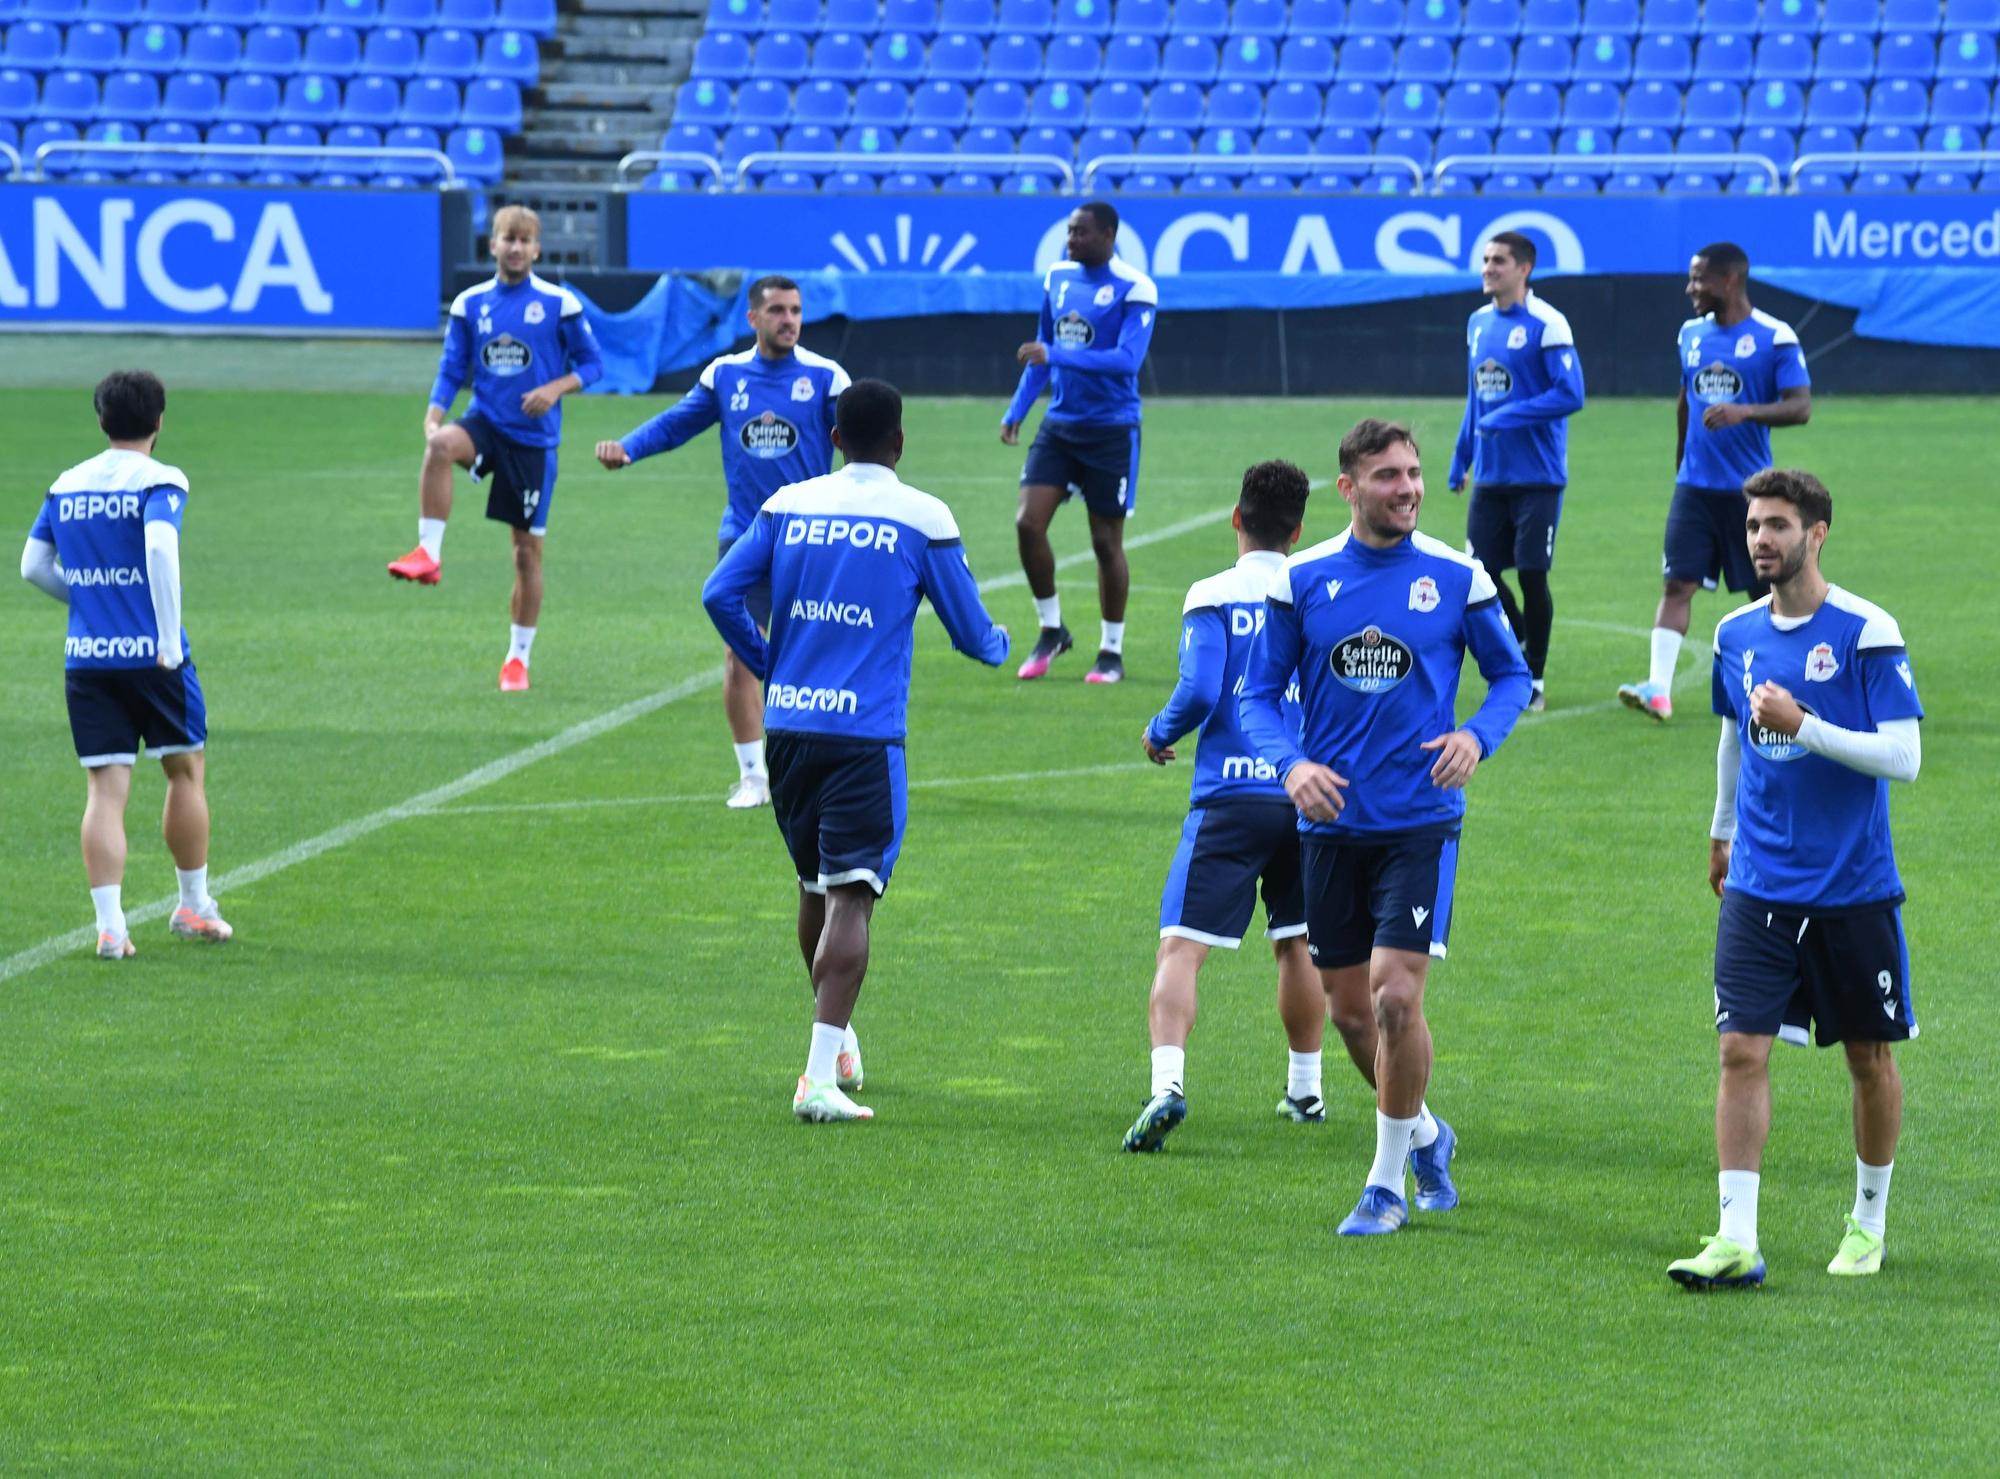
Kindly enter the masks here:
<path id="1" fill-rule="evenodd" d="M 534 276 L 542 220 L 532 210 L 502 206 L 494 212 L 492 254 L 494 276 L 452 300 L 438 382 L 424 412 L 416 548 L 392 560 L 388 574 L 436 586 L 444 522 L 452 516 L 452 468 L 468 468 L 474 482 L 488 480 L 486 518 L 514 532 L 514 626 L 500 664 L 500 692 L 524 694 L 534 630 L 542 620 L 542 538 L 556 498 L 562 398 L 594 386 L 604 376 L 604 362 L 582 300 Z M 468 376 L 472 406 L 446 426 Z"/>

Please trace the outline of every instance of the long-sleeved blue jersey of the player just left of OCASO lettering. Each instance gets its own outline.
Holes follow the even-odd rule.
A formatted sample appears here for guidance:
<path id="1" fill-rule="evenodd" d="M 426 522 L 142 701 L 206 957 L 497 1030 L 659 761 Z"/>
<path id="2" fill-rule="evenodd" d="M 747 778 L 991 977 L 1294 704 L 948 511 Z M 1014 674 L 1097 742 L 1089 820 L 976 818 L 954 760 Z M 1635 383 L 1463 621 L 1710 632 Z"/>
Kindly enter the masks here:
<path id="1" fill-rule="evenodd" d="M 1034 330 L 1048 346 L 1048 364 L 1022 368 L 1006 424 L 1028 420 L 1042 386 L 1054 382 L 1044 422 L 1138 426 L 1138 368 L 1158 314 L 1152 278 L 1118 258 L 1102 268 L 1052 266 L 1042 278 L 1042 322 Z"/>

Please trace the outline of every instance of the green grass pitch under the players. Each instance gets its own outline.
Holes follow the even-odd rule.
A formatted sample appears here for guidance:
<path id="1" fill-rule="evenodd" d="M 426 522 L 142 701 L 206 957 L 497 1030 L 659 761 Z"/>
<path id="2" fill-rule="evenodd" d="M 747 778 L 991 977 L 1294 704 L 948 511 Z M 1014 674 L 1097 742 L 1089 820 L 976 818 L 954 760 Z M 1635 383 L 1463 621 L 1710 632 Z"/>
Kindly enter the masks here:
<path id="1" fill-rule="evenodd" d="M 10 392 L 14 538 L 96 448 L 92 378 Z M 1822 1271 L 1846 1075 L 1780 1049 L 1770 1285 L 1692 1297 L 1664 1265 L 1716 1215 L 1724 598 L 1696 606 L 1674 724 L 1612 702 L 1644 670 L 1670 402 L 1574 424 L 1552 712 L 1472 783 L 1428 1003 L 1464 1207 L 1348 1243 L 1370 1099 L 1334 1049 L 1330 1123 L 1276 1121 L 1262 949 L 1212 959 L 1168 1153 L 1118 1153 L 1186 803 L 1138 732 L 1186 586 L 1234 558 L 1242 468 L 1330 478 L 1356 416 L 1406 416 L 1422 524 L 1456 542 L 1456 402 L 1154 402 L 1132 536 L 1210 522 L 1134 552 L 1122 688 L 1086 688 L 1086 656 L 1018 684 L 922 618 L 910 829 L 856 1015 L 878 1119 L 822 1131 L 788 1113 L 810 1011 L 784 851 L 768 811 L 720 805 L 714 442 L 614 478 L 588 446 L 660 402 L 570 402 L 536 688 L 504 698 L 482 496 L 460 486 L 440 588 L 382 572 L 412 542 L 422 390 L 172 394 L 212 863 L 260 865 L 222 891 L 224 949 L 154 917 L 128 967 L 46 959 L 90 921 L 84 785 L 62 618 L 0 592 L 0 1469 L 1988 1469 L 1992 406 L 1826 398 L 1776 438 L 1832 486 L 1828 574 L 1900 618 L 1930 710 L 1894 795 L 1924 1035 L 1884 1273 Z M 904 476 L 952 504 L 974 574 L 1014 576 L 988 600 L 1020 638 L 998 414 L 912 400 Z M 1324 488 L 1308 538 L 1342 522 Z M 1056 536 L 1088 648 L 1082 518 Z M 172 891 L 160 795 L 142 767 L 128 907 Z"/>

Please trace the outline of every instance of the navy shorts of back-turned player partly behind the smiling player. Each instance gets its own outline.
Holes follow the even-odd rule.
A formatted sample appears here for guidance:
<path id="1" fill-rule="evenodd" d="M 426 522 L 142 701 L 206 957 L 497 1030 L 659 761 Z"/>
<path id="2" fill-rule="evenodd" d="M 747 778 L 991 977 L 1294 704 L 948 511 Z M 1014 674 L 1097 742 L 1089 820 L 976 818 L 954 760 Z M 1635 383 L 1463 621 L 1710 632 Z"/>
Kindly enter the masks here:
<path id="1" fill-rule="evenodd" d="M 1298 809 L 1290 801 L 1224 799 L 1188 811 L 1160 893 L 1160 935 L 1236 949 L 1264 885 L 1264 937 L 1306 933 L 1298 877 Z"/>

